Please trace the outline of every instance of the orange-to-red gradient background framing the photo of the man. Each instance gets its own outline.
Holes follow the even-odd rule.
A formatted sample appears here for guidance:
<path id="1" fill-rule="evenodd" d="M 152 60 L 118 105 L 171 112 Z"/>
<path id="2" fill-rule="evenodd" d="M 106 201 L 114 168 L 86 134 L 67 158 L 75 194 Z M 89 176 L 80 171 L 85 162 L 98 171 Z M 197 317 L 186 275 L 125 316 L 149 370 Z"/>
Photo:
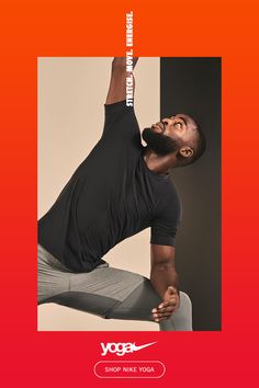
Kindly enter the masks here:
<path id="1" fill-rule="evenodd" d="M 130 10 L 135 56 L 223 60 L 222 332 L 36 331 L 37 57 L 124 56 Z M 2 1 L 0 14 L 0 385 L 257 387 L 257 1 Z M 162 378 L 94 376 L 100 342 L 135 341 L 158 343 L 123 360 L 159 360 Z"/>

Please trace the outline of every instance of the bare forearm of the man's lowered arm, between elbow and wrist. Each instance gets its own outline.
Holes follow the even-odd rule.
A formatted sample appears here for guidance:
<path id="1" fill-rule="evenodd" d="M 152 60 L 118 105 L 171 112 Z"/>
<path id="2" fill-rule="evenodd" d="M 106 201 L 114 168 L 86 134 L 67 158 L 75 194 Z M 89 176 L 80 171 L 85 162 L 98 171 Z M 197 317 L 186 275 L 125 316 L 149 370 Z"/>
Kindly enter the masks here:
<path id="1" fill-rule="evenodd" d="M 169 286 L 177 288 L 179 293 L 179 278 L 174 266 L 170 263 L 159 263 L 151 267 L 150 282 L 157 294 L 164 298 L 164 294 Z"/>

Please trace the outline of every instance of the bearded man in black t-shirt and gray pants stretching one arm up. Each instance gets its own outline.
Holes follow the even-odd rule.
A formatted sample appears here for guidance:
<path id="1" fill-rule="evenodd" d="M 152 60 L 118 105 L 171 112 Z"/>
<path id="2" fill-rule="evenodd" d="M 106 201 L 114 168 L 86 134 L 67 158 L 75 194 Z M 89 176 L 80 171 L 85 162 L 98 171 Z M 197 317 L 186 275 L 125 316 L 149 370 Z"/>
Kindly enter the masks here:
<path id="1" fill-rule="evenodd" d="M 190 116 L 177 114 L 145 128 L 144 147 L 134 106 L 126 105 L 128 76 L 125 58 L 114 58 L 101 139 L 38 220 L 38 304 L 192 330 L 174 269 L 181 207 L 169 172 L 201 157 L 205 140 Z M 102 260 L 148 227 L 150 279 Z"/>

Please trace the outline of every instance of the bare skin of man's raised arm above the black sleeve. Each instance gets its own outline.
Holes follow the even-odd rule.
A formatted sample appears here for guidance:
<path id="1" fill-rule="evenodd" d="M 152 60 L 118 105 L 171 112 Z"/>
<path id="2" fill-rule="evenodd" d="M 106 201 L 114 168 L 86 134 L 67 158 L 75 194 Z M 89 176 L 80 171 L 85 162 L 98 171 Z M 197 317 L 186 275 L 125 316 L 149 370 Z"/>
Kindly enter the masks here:
<path id="1" fill-rule="evenodd" d="M 138 57 L 133 58 L 133 68 Z M 133 77 L 133 93 L 135 80 L 132 71 L 126 71 L 126 57 L 115 57 L 112 61 L 112 75 L 105 104 L 113 104 L 126 100 L 126 77 Z"/>

